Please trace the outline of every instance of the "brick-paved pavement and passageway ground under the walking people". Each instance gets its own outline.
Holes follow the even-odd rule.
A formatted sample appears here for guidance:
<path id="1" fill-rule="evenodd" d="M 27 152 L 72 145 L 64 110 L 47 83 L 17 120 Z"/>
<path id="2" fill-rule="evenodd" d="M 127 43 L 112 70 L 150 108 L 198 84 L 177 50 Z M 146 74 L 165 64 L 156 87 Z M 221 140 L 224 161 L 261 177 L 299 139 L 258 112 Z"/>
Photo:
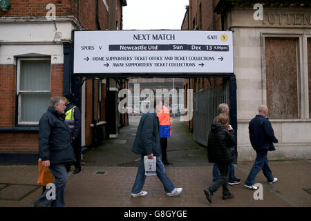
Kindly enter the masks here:
<path id="1" fill-rule="evenodd" d="M 262 195 L 243 186 L 254 162 L 238 162 L 235 173 L 242 182 L 229 186 L 235 198 L 223 200 L 219 189 L 209 204 L 203 193 L 212 184 L 207 149 L 193 142 L 193 134 L 178 118 L 173 119 L 168 139 L 167 155 L 173 165 L 166 166 L 166 171 L 175 186 L 183 188 L 182 193 L 167 196 L 158 177 L 151 176 L 143 189 L 148 195 L 132 198 L 140 155 L 132 153 L 131 147 L 139 119 L 130 116 L 130 125 L 120 129 L 119 137 L 84 153 L 80 173 L 74 175 L 72 166 L 66 207 L 311 207 L 311 160 L 270 161 L 279 180 L 268 184 L 263 173 L 258 173 L 255 183 L 262 184 Z M 41 194 L 37 176 L 37 165 L 0 165 L 0 207 L 32 207 Z"/>

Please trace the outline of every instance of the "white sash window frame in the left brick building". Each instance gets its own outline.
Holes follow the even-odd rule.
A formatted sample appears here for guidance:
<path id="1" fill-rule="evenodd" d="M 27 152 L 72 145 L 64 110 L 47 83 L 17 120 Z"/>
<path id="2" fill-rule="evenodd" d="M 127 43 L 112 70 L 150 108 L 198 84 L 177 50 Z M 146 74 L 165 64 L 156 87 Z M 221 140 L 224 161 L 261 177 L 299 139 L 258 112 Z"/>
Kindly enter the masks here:
<path id="1" fill-rule="evenodd" d="M 19 57 L 17 58 L 17 84 L 16 84 L 16 94 L 18 99 L 18 116 L 17 116 L 17 124 L 19 125 L 38 125 L 38 122 L 22 122 L 21 119 L 21 93 L 50 93 L 50 90 L 20 90 L 20 78 L 21 78 L 21 61 L 39 61 L 39 60 L 49 60 L 50 61 L 50 88 L 51 88 L 51 59 L 50 57 Z"/>

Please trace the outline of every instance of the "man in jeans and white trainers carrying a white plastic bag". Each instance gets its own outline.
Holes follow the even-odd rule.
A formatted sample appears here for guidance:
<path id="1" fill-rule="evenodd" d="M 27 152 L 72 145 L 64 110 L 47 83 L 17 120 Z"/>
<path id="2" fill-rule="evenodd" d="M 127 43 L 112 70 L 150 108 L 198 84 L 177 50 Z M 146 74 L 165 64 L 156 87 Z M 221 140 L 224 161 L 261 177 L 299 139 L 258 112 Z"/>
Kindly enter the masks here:
<path id="1" fill-rule="evenodd" d="M 168 196 L 179 195 L 182 192 L 182 188 L 175 188 L 173 182 L 171 182 L 169 177 L 167 177 L 164 164 L 160 160 L 160 126 L 158 116 L 156 115 L 156 99 L 153 103 L 153 110 L 149 110 L 149 112 L 142 115 L 140 119 L 140 124 L 138 124 L 138 130 L 133 144 L 133 153 L 142 155 L 136 179 L 131 191 L 133 198 L 148 194 L 147 191 L 142 191 L 144 181 L 146 180 L 146 175 L 144 175 L 144 155 L 147 155 L 149 159 L 156 157 L 156 173 L 163 184 L 165 193 L 167 193 Z M 161 100 L 158 101 L 158 104 L 158 110 L 161 111 Z"/>

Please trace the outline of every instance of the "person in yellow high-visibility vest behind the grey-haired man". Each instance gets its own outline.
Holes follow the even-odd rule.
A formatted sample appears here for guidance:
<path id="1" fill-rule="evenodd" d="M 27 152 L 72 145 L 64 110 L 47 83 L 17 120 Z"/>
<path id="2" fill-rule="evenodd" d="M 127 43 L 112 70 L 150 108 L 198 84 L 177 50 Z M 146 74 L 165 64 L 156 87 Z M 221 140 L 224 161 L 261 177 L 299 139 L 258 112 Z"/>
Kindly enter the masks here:
<path id="1" fill-rule="evenodd" d="M 71 135 L 73 136 L 73 151 L 75 152 L 75 171 L 73 174 L 77 174 L 81 171 L 81 145 L 79 137 L 81 135 L 81 113 L 79 108 L 73 104 L 73 95 L 64 95 L 66 109 L 65 109 L 65 121 L 68 124 Z M 70 171 L 70 164 L 66 166 L 67 171 Z"/>

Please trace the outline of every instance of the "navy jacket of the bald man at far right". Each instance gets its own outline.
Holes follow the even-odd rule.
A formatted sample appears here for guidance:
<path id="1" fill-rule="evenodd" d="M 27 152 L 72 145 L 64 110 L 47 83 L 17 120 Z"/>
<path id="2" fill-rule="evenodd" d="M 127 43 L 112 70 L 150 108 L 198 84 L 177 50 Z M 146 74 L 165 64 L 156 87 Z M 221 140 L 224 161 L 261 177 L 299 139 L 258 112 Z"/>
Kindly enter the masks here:
<path id="1" fill-rule="evenodd" d="M 248 126 L 249 140 L 255 151 L 275 151 L 273 143 L 279 142 L 274 136 L 271 122 L 263 115 L 256 115 Z"/>

